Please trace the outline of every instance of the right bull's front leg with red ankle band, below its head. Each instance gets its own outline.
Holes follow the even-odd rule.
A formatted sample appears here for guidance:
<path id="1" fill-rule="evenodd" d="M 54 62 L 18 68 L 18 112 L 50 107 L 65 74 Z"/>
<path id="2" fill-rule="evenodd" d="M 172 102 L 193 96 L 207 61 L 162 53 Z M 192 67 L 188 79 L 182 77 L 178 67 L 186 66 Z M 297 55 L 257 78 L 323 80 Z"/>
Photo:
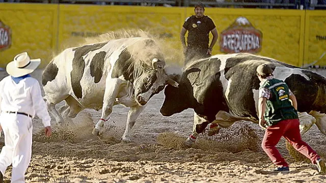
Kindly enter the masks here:
<path id="1" fill-rule="evenodd" d="M 185 140 L 186 146 L 191 146 L 196 142 L 197 137 L 202 133 L 208 125 L 208 121 L 194 112 L 193 133 Z"/>

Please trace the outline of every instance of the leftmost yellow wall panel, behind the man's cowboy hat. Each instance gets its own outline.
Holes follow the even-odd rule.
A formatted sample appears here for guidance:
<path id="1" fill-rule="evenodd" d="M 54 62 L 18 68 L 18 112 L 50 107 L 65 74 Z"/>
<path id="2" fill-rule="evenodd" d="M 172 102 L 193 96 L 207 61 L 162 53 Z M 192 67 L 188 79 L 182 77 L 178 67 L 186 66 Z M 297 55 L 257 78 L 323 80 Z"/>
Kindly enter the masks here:
<path id="1" fill-rule="evenodd" d="M 0 51 L 0 67 L 5 68 L 23 51 L 31 58 L 41 58 L 40 67 L 48 64 L 57 49 L 57 5 L 0 3 L 0 20 L 12 30 L 11 47 Z"/>

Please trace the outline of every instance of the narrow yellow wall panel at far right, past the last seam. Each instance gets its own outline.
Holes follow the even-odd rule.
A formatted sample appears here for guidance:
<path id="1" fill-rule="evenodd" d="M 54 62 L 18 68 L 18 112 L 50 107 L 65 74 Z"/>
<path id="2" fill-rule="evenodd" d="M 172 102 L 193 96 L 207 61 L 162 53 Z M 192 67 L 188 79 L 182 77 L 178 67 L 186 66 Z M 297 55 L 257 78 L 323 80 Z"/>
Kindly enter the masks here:
<path id="1" fill-rule="evenodd" d="M 306 13 L 304 65 L 313 63 L 326 52 L 326 11 L 314 10 Z M 326 55 L 315 65 L 326 66 Z"/>

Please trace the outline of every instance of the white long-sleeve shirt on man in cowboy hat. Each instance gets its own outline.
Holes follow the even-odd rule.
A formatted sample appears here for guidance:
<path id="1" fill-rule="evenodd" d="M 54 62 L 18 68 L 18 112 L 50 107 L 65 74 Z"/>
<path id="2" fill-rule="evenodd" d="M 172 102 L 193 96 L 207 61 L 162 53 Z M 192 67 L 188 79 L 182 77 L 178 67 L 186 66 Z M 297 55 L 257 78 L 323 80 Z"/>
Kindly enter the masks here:
<path id="1" fill-rule="evenodd" d="M 14 111 L 35 114 L 42 119 L 44 127 L 50 126 L 50 115 L 42 98 L 39 82 L 26 77 L 15 83 L 11 76 L 0 81 L 0 100 L 2 111 Z"/>

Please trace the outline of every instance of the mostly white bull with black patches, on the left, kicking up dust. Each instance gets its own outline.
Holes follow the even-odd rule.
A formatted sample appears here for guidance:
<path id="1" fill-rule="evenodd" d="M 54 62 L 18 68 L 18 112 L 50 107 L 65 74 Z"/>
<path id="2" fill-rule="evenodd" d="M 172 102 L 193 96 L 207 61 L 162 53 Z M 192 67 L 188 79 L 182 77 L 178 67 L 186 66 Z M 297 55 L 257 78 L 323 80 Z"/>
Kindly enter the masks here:
<path id="1" fill-rule="evenodd" d="M 49 111 L 57 123 L 85 108 L 102 109 L 93 129 L 99 135 L 114 105 L 130 107 L 122 141 L 130 141 L 135 120 L 166 84 L 177 86 L 165 72 L 165 60 L 151 39 L 127 38 L 68 48 L 45 68 L 42 84 Z M 56 110 L 56 104 L 66 105 Z"/>

